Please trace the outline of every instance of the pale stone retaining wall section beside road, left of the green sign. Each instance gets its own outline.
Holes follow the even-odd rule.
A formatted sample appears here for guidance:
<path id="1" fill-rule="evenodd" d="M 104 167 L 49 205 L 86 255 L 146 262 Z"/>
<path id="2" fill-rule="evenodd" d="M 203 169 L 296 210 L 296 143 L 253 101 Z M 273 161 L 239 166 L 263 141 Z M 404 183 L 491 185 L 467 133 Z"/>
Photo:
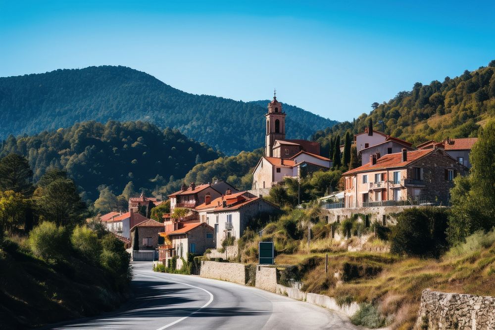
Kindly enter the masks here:
<path id="1" fill-rule="evenodd" d="M 246 284 L 246 265 L 234 262 L 201 261 L 200 277 Z"/>

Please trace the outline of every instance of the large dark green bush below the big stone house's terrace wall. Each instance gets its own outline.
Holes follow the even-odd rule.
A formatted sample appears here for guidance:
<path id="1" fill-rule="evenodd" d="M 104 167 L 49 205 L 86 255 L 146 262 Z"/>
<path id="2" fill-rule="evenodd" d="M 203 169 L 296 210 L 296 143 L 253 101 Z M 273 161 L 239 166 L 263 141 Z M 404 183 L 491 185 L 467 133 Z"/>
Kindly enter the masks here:
<path id="1" fill-rule="evenodd" d="M 400 212 L 392 228 L 391 252 L 419 257 L 439 257 L 447 248 L 448 210 L 418 207 Z"/>

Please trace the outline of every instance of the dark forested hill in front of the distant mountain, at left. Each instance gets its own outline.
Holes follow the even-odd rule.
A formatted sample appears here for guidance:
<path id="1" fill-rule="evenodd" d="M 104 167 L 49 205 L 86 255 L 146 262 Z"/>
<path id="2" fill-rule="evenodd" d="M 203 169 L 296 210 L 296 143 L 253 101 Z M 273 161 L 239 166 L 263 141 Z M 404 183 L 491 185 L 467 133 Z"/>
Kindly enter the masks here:
<path id="1" fill-rule="evenodd" d="M 11 152 L 28 158 L 35 182 L 47 169 L 60 168 L 93 201 L 101 185 L 119 193 L 130 181 L 140 190 L 154 189 L 221 156 L 177 130 L 162 131 L 140 121 L 91 121 L 34 136 L 9 136 L 0 146 L 0 158 Z"/>

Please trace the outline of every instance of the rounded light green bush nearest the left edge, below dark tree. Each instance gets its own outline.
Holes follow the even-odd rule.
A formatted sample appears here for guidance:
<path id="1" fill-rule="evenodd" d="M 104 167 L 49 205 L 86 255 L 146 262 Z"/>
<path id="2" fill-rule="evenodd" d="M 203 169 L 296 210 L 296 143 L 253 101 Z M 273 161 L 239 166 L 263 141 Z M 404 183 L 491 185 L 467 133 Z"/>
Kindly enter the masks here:
<path id="1" fill-rule="evenodd" d="M 29 233 L 29 247 L 45 260 L 60 260 L 68 251 L 68 237 L 63 227 L 43 222 Z"/>

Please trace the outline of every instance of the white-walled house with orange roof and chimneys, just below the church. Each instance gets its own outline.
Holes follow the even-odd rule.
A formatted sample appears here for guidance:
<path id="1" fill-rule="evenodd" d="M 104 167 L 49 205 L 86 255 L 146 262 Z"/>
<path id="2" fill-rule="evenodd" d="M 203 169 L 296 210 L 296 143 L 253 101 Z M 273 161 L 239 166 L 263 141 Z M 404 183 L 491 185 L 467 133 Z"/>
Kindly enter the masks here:
<path id="1" fill-rule="evenodd" d="M 261 214 L 272 214 L 279 207 L 247 191 L 227 192 L 213 200 L 206 200 L 196 208 L 201 223 L 214 229 L 214 243 L 217 248 L 227 237 L 239 238 L 250 220 Z"/>

